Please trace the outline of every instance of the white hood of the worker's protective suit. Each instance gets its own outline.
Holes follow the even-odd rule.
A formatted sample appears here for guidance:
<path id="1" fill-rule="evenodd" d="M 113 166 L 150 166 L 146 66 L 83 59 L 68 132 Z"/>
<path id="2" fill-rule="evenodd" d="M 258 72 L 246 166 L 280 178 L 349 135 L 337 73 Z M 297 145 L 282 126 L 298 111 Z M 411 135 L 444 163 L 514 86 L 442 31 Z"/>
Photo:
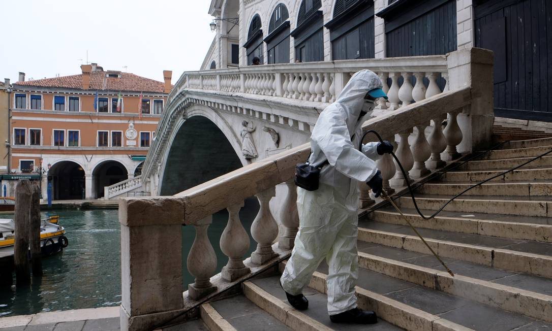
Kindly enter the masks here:
<path id="1" fill-rule="evenodd" d="M 378 75 L 370 70 L 361 70 L 353 74 L 353 77 L 339 93 L 335 104 L 346 114 L 349 131 L 352 132 L 358 122 L 360 110 L 366 102 L 364 99 L 366 93 L 375 88 L 382 88 Z"/>

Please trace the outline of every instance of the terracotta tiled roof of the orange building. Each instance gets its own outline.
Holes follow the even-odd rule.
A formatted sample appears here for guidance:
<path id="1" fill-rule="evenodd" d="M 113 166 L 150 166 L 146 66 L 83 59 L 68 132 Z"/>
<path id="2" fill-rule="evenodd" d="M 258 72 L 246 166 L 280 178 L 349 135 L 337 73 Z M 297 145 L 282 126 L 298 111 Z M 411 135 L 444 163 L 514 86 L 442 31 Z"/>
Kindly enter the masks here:
<path id="1" fill-rule="evenodd" d="M 21 86 L 82 89 L 82 74 L 17 82 Z M 134 73 L 121 73 L 121 78 L 107 77 L 105 71 L 90 73 L 89 90 L 113 90 L 128 92 L 164 92 L 164 83 Z"/>

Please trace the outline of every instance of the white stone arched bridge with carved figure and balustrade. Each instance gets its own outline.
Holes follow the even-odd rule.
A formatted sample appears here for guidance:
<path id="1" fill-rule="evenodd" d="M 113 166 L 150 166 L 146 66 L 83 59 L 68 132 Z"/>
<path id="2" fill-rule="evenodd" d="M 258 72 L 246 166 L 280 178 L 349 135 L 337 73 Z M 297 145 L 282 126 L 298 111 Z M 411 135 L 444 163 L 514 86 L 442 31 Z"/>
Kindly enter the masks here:
<path id="1" fill-rule="evenodd" d="M 176 194 L 299 146 L 319 113 L 365 68 L 378 73 L 389 94 L 375 114 L 448 89 L 442 55 L 185 72 L 169 95 L 141 177 L 106 188 L 106 196 Z"/>

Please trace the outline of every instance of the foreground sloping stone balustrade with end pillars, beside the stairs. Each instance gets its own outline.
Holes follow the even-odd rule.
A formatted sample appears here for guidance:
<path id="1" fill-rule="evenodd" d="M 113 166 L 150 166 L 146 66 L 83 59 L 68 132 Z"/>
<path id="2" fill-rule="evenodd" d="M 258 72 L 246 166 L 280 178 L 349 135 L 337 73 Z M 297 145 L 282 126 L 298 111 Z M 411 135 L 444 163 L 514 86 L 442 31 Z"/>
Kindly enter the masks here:
<path id="1" fill-rule="evenodd" d="M 397 172 L 388 154 L 380 158 L 377 164 L 388 191 L 402 188 L 407 179 L 420 179 L 457 159 L 460 153 L 473 152 L 490 142 L 492 53 L 460 50 L 450 54 L 447 62 L 451 77 L 456 77 L 450 82 L 450 91 L 387 111 L 363 125 L 364 130 L 376 130 L 397 142 L 396 155 L 409 173 L 409 178 L 404 178 Z M 442 130 L 445 118 L 447 125 Z M 426 137 L 428 126 L 431 134 Z M 309 145 L 301 145 L 174 196 L 121 199 L 121 329 L 152 329 L 183 321 L 201 302 L 286 258 L 299 227 L 294 168 L 308 153 Z M 278 237 L 278 223 L 269 202 L 275 196 L 275 186 L 282 183 L 288 190 L 279 206 L 284 231 Z M 253 195 L 260 204 L 251 226 L 257 247 L 251 257 L 244 259 L 250 239 L 238 212 L 243 201 Z M 370 203 L 373 201 L 364 187 L 360 205 Z M 213 213 L 224 209 L 229 212 L 229 220 L 220 237 L 220 248 L 228 262 L 220 274 L 214 275 L 216 255 L 207 230 Z M 195 228 L 195 239 L 186 257 L 195 281 L 187 291 L 182 276 L 182 225 Z"/>

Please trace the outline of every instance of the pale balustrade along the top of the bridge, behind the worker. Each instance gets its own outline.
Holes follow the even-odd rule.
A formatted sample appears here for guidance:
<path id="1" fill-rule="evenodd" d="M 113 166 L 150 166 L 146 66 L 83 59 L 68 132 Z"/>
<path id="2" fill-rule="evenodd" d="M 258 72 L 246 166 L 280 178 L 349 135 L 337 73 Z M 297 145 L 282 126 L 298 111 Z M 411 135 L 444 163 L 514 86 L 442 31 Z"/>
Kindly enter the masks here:
<path id="1" fill-rule="evenodd" d="M 245 98 L 261 95 L 275 102 L 286 98 L 320 103 L 320 108 L 323 108 L 327 103 L 335 101 L 336 95 L 341 92 L 352 74 L 362 69 L 370 69 L 382 79 L 383 90 L 388 93 L 389 102 L 380 100 L 377 107 L 380 110 L 399 109 L 442 93 L 438 79 L 448 82 L 447 59 L 444 55 L 280 63 L 184 72 L 168 96 L 168 103 L 158 124 L 156 140 L 148 152 L 142 173 L 145 177 L 151 175 L 155 168 L 153 163 L 158 158 L 149 153 L 162 151 L 159 147 L 166 139 L 165 130 L 172 120 L 171 114 L 190 90 L 243 95 Z M 448 89 L 447 84 L 443 91 Z"/>

